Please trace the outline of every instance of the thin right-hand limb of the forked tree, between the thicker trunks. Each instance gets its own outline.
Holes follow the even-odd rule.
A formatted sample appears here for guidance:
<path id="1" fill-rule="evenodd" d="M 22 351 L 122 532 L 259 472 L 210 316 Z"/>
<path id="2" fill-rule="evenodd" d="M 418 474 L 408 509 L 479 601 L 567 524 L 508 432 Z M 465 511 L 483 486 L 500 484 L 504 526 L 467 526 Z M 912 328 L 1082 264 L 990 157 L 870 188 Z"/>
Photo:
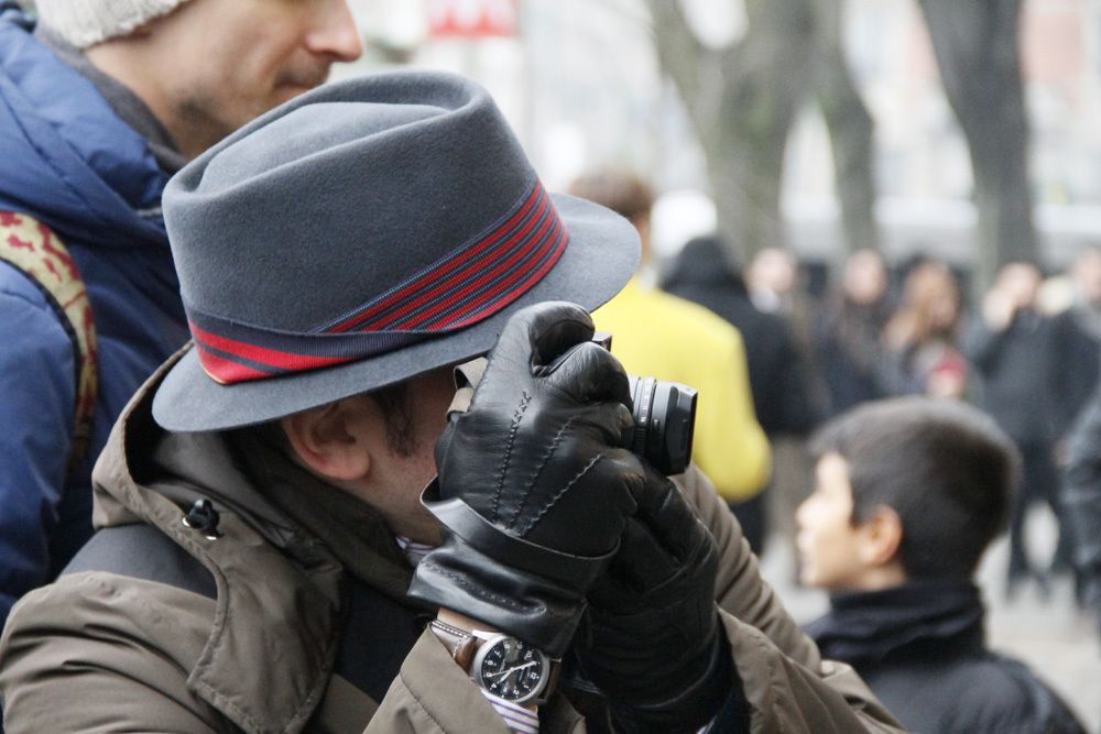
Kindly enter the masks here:
<path id="1" fill-rule="evenodd" d="M 857 91 L 844 56 L 842 1 L 818 1 L 817 98 L 833 151 L 833 179 L 846 249 L 877 250 L 872 117 Z"/>

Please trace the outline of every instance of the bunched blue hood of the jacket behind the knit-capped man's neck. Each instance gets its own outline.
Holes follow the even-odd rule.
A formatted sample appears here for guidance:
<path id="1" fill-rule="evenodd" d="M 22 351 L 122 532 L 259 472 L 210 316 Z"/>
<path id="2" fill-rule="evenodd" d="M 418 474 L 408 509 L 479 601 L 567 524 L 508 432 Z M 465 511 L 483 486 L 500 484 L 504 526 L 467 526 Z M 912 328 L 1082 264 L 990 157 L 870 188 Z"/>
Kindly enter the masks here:
<path id="1" fill-rule="evenodd" d="M 33 22 L 0 7 L 0 208 L 34 215 L 66 243 L 163 247 L 168 178 L 146 141 L 86 76 L 36 39 Z M 171 269 L 170 269 L 171 270 Z M 175 273 L 173 273 L 173 278 Z"/>

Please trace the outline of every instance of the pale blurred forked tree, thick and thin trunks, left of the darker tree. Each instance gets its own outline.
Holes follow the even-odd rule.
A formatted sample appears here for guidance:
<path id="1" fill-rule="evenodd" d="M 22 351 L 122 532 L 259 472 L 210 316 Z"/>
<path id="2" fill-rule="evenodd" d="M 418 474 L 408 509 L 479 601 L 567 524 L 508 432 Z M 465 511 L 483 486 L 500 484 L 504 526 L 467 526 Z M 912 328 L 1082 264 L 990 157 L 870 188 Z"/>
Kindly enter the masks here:
<path id="1" fill-rule="evenodd" d="M 676 0 L 647 2 L 658 56 L 704 146 L 732 256 L 786 244 L 784 152 L 811 90 L 830 132 L 846 244 L 876 248 L 872 120 L 842 48 L 842 0 L 746 0 L 748 31 L 721 52 L 696 40 Z"/>

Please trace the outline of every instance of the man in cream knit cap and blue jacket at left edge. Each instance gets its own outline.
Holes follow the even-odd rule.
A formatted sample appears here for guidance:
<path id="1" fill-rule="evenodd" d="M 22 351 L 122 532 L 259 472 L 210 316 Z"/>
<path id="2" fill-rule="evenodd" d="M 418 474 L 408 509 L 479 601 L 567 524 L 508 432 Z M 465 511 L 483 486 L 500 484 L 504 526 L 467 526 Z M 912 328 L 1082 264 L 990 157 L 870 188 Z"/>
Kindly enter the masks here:
<path id="1" fill-rule="evenodd" d="M 344 0 L 35 4 L 0 2 L 0 622 L 91 534 L 92 462 L 187 338 L 165 182 L 361 51 Z"/>

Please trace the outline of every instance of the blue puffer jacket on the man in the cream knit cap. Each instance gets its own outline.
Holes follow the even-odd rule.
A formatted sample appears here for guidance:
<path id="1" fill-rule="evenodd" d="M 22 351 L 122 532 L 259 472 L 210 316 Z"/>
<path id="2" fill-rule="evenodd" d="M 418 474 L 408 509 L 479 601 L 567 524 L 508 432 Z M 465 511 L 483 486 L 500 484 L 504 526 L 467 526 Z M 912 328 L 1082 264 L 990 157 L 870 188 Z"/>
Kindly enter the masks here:
<path id="1" fill-rule="evenodd" d="M 160 213 L 167 176 L 96 88 L 0 2 L 0 211 L 68 247 L 91 298 L 99 397 L 88 456 L 66 479 L 75 399 L 68 337 L 0 263 L 0 623 L 91 534 L 91 465 L 144 379 L 187 338 Z"/>

